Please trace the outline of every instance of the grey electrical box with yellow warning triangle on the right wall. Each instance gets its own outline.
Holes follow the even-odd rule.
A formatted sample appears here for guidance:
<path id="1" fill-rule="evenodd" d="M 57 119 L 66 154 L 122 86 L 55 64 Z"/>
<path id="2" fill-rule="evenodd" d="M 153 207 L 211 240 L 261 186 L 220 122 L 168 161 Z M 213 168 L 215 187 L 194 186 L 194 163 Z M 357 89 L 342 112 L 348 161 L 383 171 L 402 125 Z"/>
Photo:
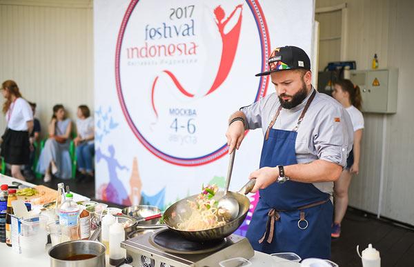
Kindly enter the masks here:
<path id="1" fill-rule="evenodd" d="M 397 112 L 398 70 L 351 70 L 351 81 L 359 86 L 362 112 Z"/>

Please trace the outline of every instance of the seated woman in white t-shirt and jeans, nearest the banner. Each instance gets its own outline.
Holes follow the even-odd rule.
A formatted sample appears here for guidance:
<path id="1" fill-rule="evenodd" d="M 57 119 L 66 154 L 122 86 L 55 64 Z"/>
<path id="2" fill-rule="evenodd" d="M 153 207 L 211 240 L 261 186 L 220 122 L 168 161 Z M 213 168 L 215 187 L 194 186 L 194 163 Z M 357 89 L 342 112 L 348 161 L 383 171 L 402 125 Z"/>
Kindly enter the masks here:
<path id="1" fill-rule="evenodd" d="M 93 155 L 95 155 L 95 126 L 90 117 L 88 106 L 81 105 L 77 110 L 77 137 L 73 140 L 76 146 L 77 168 L 81 179 L 88 181 L 93 177 Z"/>

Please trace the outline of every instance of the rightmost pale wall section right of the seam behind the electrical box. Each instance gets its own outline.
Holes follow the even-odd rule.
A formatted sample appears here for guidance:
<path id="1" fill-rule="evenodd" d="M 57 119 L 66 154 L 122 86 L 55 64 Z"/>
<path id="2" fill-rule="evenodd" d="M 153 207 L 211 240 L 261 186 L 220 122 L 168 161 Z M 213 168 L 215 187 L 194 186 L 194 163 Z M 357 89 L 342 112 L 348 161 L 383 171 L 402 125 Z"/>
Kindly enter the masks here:
<path id="1" fill-rule="evenodd" d="M 388 118 L 382 215 L 414 224 L 414 1 L 391 1 L 388 66 L 400 69 L 397 114 Z"/>

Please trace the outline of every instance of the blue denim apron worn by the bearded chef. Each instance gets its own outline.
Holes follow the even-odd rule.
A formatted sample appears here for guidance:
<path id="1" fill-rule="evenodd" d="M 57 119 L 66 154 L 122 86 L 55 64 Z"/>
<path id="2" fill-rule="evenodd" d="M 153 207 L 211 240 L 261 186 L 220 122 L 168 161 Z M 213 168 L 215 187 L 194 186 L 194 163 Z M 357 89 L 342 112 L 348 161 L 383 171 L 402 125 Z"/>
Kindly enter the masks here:
<path id="1" fill-rule="evenodd" d="M 315 97 L 309 97 L 292 131 L 275 130 L 279 107 L 264 138 L 260 168 L 297 164 L 297 128 Z M 333 205 L 330 195 L 313 184 L 297 181 L 273 183 L 260 190 L 260 199 L 246 234 L 255 250 L 263 253 L 296 253 L 302 259 L 331 257 Z"/>

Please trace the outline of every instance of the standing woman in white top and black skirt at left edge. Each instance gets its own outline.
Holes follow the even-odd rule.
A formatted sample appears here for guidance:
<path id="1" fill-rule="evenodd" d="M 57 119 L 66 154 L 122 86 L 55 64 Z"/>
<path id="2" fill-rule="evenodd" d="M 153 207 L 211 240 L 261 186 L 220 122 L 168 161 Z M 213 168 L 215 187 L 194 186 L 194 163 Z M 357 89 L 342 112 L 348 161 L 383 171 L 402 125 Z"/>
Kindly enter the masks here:
<path id="1" fill-rule="evenodd" d="M 33 130 L 32 108 L 21 97 L 17 83 L 12 80 L 3 82 L 1 93 L 6 99 L 3 113 L 7 121 L 6 131 L 1 137 L 1 157 L 12 166 L 12 177 L 25 181 L 20 168 L 29 163 L 29 133 Z"/>

